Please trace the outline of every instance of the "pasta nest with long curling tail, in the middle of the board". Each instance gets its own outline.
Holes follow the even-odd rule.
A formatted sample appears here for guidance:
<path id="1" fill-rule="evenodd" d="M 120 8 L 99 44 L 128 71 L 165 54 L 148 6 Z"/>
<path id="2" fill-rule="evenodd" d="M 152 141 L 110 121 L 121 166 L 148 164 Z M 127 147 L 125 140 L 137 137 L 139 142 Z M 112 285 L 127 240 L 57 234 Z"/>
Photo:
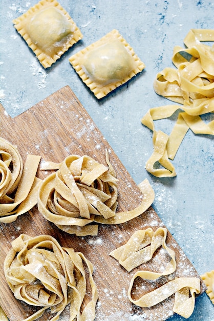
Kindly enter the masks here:
<path id="1" fill-rule="evenodd" d="M 38 210 L 58 228 L 77 236 L 97 235 L 98 224 L 121 224 L 142 214 L 154 200 L 148 181 L 142 182 L 141 204 L 131 211 L 116 212 L 115 170 L 90 156 L 69 155 L 62 163 L 45 162 L 40 169 L 56 171 L 47 176 L 38 190 Z"/>

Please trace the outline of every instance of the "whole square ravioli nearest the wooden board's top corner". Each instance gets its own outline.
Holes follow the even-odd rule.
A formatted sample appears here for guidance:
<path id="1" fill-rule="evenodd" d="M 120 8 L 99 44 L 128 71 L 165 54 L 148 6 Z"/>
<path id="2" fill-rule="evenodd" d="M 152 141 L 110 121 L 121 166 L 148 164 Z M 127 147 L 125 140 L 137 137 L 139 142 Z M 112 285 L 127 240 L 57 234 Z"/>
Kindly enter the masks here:
<path id="1" fill-rule="evenodd" d="M 98 99 L 145 68 L 133 48 L 115 29 L 72 55 L 69 61 Z"/>

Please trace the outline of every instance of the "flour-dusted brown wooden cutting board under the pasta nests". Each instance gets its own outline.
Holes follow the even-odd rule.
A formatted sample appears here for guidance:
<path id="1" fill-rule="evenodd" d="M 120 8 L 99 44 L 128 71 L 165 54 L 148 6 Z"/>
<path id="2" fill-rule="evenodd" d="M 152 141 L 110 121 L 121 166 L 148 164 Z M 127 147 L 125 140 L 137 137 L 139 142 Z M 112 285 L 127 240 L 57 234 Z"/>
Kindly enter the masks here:
<path id="1" fill-rule="evenodd" d="M 105 149 L 110 151 L 110 162 L 119 179 L 119 211 L 131 210 L 140 204 L 142 194 L 130 174 L 121 164 L 111 146 L 87 113 L 72 90 L 66 86 L 23 114 L 11 118 L 0 107 L 1 136 L 18 146 L 18 150 L 25 162 L 27 154 L 41 155 L 41 160 L 61 162 L 69 154 L 89 155 L 99 163 L 105 164 Z M 130 142 L 131 143 L 131 142 Z M 44 171 L 38 171 L 37 176 L 44 178 Z M 161 321 L 173 314 L 174 295 L 154 308 L 139 308 L 130 303 L 127 289 L 130 280 L 139 269 L 159 271 L 165 264 L 161 251 L 157 250 L 154 258 L 143 267 L 140 266 L 130 273 L 126 272 L 118 262 L 109 255 L 115 248 L 126 243 L 130 236 L 138 229 L 151 226 L 156 230 L 163 226 L 160 218 L 152 207 L 130 222 L 117 226 L 100 226 L 98 236 L 77 237 L 59 230 L 49 223 L 34 207 L 29 213 L 21 215 L 11 224 L 0 224 L 0 305 L 7 313 L 10 321 L 19 321 L 31 315 L 37 309 L 16 300 L 10 291 L 4 276 L 4 259 L 11 248 L 11 241 L 21 233 L 31 236 L 50 234 L 61 246 L 73 247 L 91 260 L 95 267 L 94 279 L 99 292 L 96 308 L 96 321 L 125 321 L 136 319 L 137 316 L 146 320 Z M 175 239 L 168 232 L 167 245 L 176 252 L 177 269 L 170 277 L 197 276 Z M 170 278 L 169 277 L 169 278 Z M 168 279 L 169 279 L 168 278 Z M 168 280 L 167 277 L 164 281 Z M 163 282 L 163 278 L 160 280 Z M 151 291 L 151 281 L 139 280 L 141 295 Z M 158 283 L 156 287 L 158 287 Z M 205 290 L 201 282 L 201 293 Z M 137 297 L 136 297 L 137 298 Z M 50 319 L 50 314 L 40 318 Z M 68 309 L 63 321 L 69 320 Z"/>

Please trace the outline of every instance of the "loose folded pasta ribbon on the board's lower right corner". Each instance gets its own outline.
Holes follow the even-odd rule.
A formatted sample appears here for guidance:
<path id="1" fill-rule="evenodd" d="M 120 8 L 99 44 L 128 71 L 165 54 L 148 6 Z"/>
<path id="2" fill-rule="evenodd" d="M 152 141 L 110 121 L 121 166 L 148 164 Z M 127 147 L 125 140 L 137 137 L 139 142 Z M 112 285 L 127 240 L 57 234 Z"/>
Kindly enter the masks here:
<path id="1" fill-rule="evenodd" d="M 166 228 L 158 228 L 155 232 L 152 228 L 136 231 L 121 247 L 110 253 L 116 258 L 120 265 L 127 271 L 131 271 L 139 265 L 152 259 L 155 251 L 162 246 L 171 257 L 162 273 L 140 270 L 131 279 L 128 296 L 132 303 L 141 307 L 148 308 L 157 305 L 175 293 L 173 311 L 188 318 L 195 307 L 195 294 L 200 293 L 201 285 L 198 277 L 179 277 L 170 280 L 163 286 L 142 295 L 139 299 L 132 298 L 132 288 L 137 277 L 147 280 L 156 280 L 163 275 L 169 275 L 176 270 L 175 252 L 166 245 Z"/>

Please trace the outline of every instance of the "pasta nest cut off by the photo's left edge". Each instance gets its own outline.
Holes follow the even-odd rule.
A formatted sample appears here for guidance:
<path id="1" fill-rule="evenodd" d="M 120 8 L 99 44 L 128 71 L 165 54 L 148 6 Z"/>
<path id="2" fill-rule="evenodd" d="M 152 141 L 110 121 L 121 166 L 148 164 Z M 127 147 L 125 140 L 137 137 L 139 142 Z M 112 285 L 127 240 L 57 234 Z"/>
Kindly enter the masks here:
<path id="1" fill-rule="evenodd" d="M 25 165 L 17 147 L 0 137 L 0 222 L 11 223 L 37 203 L 40 156 L 28 155 Z"/>

